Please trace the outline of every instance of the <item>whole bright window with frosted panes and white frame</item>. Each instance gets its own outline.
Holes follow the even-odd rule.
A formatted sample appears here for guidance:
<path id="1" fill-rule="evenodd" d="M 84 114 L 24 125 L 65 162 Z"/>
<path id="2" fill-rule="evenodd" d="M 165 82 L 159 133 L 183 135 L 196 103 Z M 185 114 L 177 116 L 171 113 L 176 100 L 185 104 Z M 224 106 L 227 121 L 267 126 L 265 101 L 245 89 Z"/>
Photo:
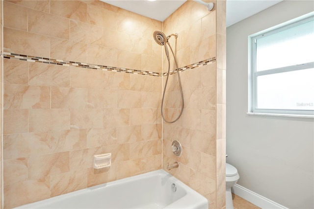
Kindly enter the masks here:
<path id="1" fill-rule="evenodd" d="M 314 16 L 249 37 L 251 111 L 314 114 Z"/>

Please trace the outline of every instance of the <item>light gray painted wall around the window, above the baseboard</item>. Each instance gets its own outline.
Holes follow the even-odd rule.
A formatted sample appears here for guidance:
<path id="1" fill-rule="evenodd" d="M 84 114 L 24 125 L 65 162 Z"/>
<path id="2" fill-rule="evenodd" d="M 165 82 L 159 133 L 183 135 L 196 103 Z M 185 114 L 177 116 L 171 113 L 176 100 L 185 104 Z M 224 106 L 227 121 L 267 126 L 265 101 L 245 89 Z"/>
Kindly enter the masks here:
<path id="1" fill-rule="evenodd" d="M 248 36 L 314 10 L 284 0 L 227 28 L 227 162 L 238 184 L 285 207 L 314 208 L 314 120 L 248 110 Z"/>

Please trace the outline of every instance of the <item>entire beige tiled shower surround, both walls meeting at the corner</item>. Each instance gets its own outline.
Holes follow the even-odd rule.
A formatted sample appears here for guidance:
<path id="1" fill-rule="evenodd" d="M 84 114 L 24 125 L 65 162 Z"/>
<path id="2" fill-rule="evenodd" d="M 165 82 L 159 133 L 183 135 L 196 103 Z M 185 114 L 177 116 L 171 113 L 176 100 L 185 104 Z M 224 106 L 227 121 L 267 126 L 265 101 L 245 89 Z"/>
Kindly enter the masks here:
<path id="1" fill-rule="evenodd" d="M 97 0 L 3 4 L 5 208 L 161 168 L 167 62 L 154 30 L 179 32 L 171 46 L 179 68 L 188 66 L 182 118 L 163 123 L 164 168 L 178 160 L 170 172 L 210 208 L 224 207 L 225 1 L 209 12 L 189 0 L 163 28 Z M 167 117 L 180 105 L 176 76 Z M 180 158 L 169 151 L 174 139 L 183 145 Z M 93 169 L 92 156 L 109 152 L 112 166 Z"/>

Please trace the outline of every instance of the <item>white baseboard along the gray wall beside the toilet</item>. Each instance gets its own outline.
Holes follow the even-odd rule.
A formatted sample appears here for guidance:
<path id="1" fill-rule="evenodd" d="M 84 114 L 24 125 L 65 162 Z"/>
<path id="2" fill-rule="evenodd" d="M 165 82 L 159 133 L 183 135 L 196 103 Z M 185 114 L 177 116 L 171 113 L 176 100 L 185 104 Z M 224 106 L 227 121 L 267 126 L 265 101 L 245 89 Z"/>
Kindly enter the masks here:
<path id="1" fill-rule="evenodd" d="M 231 189 L 237 196 L 253 203 L 261 209 L 288 209 L 238 184 L 235 184 Z"/>

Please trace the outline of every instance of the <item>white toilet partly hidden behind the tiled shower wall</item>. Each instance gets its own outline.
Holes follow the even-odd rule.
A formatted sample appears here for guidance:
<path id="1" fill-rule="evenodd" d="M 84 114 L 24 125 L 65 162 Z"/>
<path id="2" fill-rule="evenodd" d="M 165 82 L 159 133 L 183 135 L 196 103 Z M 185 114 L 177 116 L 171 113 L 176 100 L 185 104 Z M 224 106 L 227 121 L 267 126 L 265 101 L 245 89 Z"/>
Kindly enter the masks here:
<path id="1" fill-rule="evenodd" d="M 231 187 L 235 185 L 239 178 L 236 168 L 226 163 L 226 209 L 234 209 Z"/>

